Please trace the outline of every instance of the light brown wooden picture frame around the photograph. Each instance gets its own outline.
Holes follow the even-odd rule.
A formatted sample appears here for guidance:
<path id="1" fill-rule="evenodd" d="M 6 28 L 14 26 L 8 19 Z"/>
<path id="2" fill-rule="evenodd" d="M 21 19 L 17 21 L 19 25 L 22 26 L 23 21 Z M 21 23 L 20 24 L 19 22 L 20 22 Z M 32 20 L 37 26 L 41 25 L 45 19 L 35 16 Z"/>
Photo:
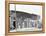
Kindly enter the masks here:
<path id="1" fill-rule="evenodd" d="M 40 5 L 42 6 L 42 31 L 40 32 L 9 32 L 9 4 L 28 4 L 28 5 Z M 5 2 L 5 35 L 22 35 L 22 34 L 35 34 L 35 33 L 44 33 L 45 32 L 45 3 L 42 2 L 19 2 L 19 1 L 6 1 Z"/>

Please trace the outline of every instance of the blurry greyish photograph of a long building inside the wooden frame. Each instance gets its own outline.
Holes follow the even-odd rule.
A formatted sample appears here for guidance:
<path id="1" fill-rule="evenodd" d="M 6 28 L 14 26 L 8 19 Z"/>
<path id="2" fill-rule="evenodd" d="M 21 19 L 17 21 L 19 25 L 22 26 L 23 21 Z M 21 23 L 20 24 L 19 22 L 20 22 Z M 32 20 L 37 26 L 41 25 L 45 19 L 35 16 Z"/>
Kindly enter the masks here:
<path id="1" fill-rule="evenodd" d="M 10 4 L 10 32 L 42 31 L 42 6 Z"/>

